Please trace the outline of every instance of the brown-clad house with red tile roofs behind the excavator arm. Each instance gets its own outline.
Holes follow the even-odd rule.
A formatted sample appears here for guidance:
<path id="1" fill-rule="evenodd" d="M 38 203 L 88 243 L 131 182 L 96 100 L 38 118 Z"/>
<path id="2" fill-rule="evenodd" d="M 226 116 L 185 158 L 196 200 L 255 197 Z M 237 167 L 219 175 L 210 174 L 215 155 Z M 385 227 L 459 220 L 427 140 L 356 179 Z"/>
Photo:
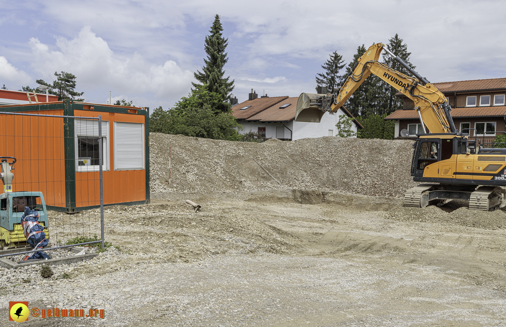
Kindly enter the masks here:
<path id="1" fill-rule="evenodd" d="M 453 82 L 433 83 L 439 91 L 443 92 L 452 107 L 451 116 L 455 128 L 459 131 L 476 134 L 483 143 L 493 142 L 498 132 L 506 127 L 506 77 L 459 80 Z M 394 138 L 402 139 L 400 131 L 408 130 L 406 139 L 415 139 L 421 130 L 420 119 L 414 102 L 397 93 L 398 98 L 404 100 L 402 109 L 396 110 L 385 119 L 395 120 Z M 470 130 L 468 130 L 470 129 Z"/>

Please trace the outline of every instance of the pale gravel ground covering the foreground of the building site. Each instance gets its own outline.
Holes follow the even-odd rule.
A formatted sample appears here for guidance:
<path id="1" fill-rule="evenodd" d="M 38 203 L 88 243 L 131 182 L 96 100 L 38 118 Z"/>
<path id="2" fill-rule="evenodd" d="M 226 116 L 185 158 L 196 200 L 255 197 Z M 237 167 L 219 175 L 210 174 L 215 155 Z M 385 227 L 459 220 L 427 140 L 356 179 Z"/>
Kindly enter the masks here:
<path id="1" fill-rule="evenodd" d="M 55 267 L 50 279 L 33 266 L 2 270 L 0 310 L 20 300 L 106 313 L 27 326 L 504 325 L 504 229 L 385 219 L 399 201 L 326 190 L 159 194 L 108 210 L 106 240 L 118 248 L 94 260 Z"/>

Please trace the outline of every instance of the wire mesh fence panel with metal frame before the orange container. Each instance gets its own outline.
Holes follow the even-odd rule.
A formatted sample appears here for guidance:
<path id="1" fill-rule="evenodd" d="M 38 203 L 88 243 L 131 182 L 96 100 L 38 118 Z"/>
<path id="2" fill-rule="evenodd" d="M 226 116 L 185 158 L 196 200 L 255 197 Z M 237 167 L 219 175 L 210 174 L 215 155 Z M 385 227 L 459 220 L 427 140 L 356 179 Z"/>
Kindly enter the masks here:
<path id="1" fill-rule="evenodd" d="M 0 111 L 0 257 L 19 263 L 104 247 L 104 123 Z"/>

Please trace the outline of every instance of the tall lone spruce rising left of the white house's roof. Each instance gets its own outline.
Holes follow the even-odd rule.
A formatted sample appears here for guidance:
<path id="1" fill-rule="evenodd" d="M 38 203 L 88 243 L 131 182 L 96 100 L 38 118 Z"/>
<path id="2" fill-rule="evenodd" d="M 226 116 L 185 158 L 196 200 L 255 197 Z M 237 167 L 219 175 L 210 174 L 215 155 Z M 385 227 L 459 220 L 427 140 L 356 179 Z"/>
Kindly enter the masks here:
<path id="1" fill-rule="evenodd" d="M 204 59 L 205 65 L 202 72 L 194 73 L 195 79 L 201 84 L 193 84 L 197 88 L 207 84 L 208 92 L 220 94 L 223 100 L 226 100 L 234 89 L 234 80 L 229 81 L 230 76 L 223 77 L 225 71 L 223 67 L 228 61 L 225 49 L 228 46 L 228 38 L 223 37 L 223 27 L 220 22 L 220 16 L 215 16 L 215 21 L 211 26 L 210 35 L 205 36 L 204 49 L 207 59 Z"/>

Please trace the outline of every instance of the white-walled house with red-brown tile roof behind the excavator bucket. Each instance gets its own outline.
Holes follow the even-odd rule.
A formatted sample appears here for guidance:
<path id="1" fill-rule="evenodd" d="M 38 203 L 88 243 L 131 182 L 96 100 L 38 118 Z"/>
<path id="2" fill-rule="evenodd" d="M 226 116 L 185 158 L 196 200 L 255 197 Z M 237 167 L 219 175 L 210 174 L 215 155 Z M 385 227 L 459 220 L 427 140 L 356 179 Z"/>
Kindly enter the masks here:
<path id="1" fill-rule="evenodd" d="M 236 104 L 232 107 L 232 115 L 242 125 L 240 134 L 249 131 L 259 133 L 267 138 L 281 140 L 298 140 L 304 138 L 335 136 L 338 131 L 335 125 L 339 115 L 346 114 L 353 119 L 352 130 L 356 133 L 361 129 L 360 123 L 345 107 L 338 112 L 325 112 L 320 122 L 295 121 L 297 101 L 299 97 L 267 97 L 257 98 L 257 94 L 251 90 L 249 100 Z"/>

